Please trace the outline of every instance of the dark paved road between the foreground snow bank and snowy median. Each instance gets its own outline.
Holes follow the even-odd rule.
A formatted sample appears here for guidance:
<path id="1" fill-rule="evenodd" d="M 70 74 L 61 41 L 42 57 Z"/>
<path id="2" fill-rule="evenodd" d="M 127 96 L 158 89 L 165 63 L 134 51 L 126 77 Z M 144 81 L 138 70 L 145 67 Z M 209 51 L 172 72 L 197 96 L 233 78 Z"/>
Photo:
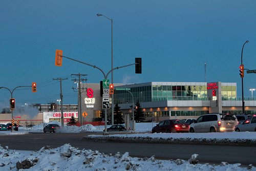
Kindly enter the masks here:
<path id="1" fill-rule="evenodd" d="M 93 133 L 95 134 L 95 133 Z M 27 135 L 1 135 L 0 144 L 10 149 L 38 150 L 50 145 L 52 148 L 70 143 L 79 149 L 92 149 L 103 153 L 115 154 L 129 152 L 130 156 L 158 159 L 184 159 L 198 154 L 201 163 L 241 163 L 256 165 L 255 146 L 193 145 L 193 144 L 147 144 L 121 142 L 95 142 L 82 139 L 88 133 L 33 133 Z M 100 133 L 102 135 L 102 133 Z"/>

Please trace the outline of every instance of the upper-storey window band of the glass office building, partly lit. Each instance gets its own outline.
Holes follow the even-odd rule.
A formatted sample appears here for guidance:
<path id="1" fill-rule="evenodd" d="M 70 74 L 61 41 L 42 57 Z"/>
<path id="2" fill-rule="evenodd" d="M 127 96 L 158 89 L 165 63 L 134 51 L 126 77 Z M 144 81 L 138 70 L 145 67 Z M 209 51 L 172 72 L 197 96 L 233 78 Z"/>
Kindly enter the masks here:
<path id="1" fill-rule="evenodd" d="M 152 90 L 152 91 L 151 91 Z M 131 88 L 134 102 L 161 101 L 161 100 L 207 100 L 206 86 L 163 86 L 153 85 Z M 236 86 L 222 86 L 223 98 L 237 97 Z M 124 90 L 115 90 L 115 103 L 132 103 L 131 93 Z"/>

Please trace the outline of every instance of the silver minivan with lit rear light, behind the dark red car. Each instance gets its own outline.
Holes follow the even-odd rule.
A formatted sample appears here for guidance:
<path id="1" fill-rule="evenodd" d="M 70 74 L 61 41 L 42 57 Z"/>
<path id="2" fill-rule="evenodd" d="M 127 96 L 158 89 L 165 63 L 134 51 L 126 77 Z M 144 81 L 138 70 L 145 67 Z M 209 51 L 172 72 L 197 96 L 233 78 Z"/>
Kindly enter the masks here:
<path id="1" fill-rule="evenodd" d="M 189 132 L 232 132 L 237 124 L 238 120 L 233 114 L 211 113 L 200 116 L 190 124 Z"/>

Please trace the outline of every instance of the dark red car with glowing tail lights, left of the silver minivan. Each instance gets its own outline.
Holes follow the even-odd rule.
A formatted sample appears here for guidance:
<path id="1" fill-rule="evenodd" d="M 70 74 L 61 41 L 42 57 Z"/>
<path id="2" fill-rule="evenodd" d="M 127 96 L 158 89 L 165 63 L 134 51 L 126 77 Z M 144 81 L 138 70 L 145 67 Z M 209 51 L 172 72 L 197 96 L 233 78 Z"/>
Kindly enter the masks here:
<path id="1" fill-rule="evenodd" d="M 163 120 L 152 129 L 152 133 L 178 133 L 188 131 L 189 124 L 179 119 Z"/>

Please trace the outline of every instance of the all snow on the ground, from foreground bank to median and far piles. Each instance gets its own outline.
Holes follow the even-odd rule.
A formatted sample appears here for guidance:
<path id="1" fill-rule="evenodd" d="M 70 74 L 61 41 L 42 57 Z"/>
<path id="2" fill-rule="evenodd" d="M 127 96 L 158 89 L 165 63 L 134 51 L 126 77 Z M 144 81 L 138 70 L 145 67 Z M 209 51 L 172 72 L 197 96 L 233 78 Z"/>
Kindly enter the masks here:
<path id="1" fill-rule="evenodd" d="M 57 122 L 58 123 L 58 122 Z M 59 123 L 58 123 L 59 124 Z M 108 125 L 109 127 L 110 125 Z M 152 138 L 216 138 L 216 139 L 249 139 L 255 141 L 255 132 L 233 132 L 233 133 L 173 133 L 173 134 L 151 134 L 152 126 L 155 123 L 136 123 L 136 134 L 115 134 L 107 137 L 152 137 Z M 42 132 L 44 124 L 35 125 L 31 128 L 19 127 L 19 131 L 0 131 L 1 134 L 15 135 L 28 134 L 29 132 Z M 60 132 L 79 133 L 102 132 L 104 126 L 84 125 L 65 126 Z M 131 131 L 129 131 L 131 132 Z M 91 137 L 102 137 L 91 135 Z M 20 169 L 21 168 L 21 169 Z M 0 146 L 0 170 L 255 170 L 256 167 L 249 165 L 241 167 L 239 163 L 228 164 L 225 162 L 219 165 L 197 163 L 197 154 L 187 160 L 156 160 L 151 158 L 130 157 L 125 154 L 102 154 L 97 151 L 79 150 L 69 144 L 58 148 L 42 147 L 37 152 L 16 151 L 8 147 Z M 26 169 L 27 170 L 27 169 Z"/>

